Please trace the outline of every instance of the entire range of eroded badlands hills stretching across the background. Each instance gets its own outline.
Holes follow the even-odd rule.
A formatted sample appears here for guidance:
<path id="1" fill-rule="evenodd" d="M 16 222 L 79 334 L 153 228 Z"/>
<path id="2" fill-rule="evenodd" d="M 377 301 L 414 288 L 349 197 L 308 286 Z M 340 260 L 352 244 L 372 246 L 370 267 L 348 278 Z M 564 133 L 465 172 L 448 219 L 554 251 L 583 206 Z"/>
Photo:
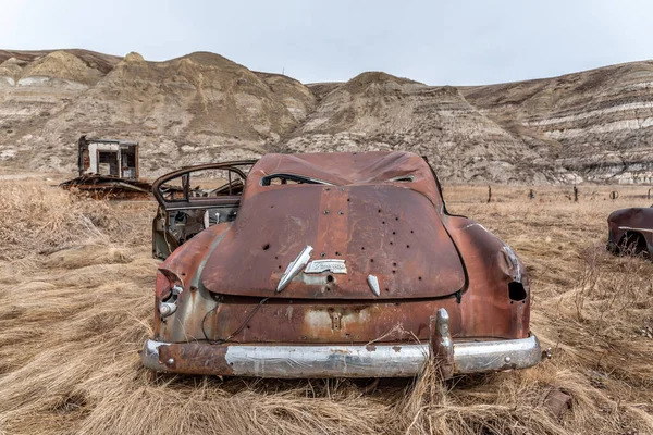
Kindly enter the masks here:
<path id="1" fill-rule="evenodd" d="M 138 140 L 150 177 L 267 151 L 405 149 L 448 183 L 650 183 L 653 62 L 455 88 L 380 72 L 304 85 L 207 52 L 0 50 L 0 165 L 72 172 L 81 134 Z"/>

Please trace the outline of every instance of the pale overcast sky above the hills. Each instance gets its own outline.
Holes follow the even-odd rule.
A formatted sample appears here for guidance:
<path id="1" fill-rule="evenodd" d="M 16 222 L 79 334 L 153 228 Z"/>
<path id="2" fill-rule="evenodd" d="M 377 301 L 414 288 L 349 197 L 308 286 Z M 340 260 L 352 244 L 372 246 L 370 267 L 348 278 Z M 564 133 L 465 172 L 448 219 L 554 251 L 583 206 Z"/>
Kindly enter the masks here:
<path id="1" fill-rule="evenodd" d="M 0 49 L 53 48 L 212 51 L 304 83 L 490 84 L 652 59 L 653 1 L 0 0 Z"/>

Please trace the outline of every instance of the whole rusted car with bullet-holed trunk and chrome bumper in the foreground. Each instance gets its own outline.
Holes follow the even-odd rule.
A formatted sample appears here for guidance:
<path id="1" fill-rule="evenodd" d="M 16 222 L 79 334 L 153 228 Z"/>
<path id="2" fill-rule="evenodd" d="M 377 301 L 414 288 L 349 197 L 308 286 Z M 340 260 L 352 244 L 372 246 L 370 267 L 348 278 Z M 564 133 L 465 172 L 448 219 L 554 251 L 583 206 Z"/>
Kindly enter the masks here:
<path id="1" fill-rule="evenodd" d="M 226 184 L 193 187 L 210 171 Z M 449 377 L 540 361 L 523 265 L 447 213 L 419 156 L 267 154 L 177 171 L 153 189 L 153 251 L 170 257 L 147 368 L 392 377 L 432 356 Z"/>

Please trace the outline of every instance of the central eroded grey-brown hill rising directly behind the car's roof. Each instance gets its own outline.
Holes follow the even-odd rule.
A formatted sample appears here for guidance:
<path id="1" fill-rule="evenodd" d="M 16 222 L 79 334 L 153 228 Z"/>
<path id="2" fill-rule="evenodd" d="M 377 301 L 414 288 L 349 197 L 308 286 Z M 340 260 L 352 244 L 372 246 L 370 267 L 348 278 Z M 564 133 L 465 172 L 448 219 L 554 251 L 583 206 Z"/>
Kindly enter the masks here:
<path id="1" fill-rule="evenodd" d="M 441 177 L 518 182 L 537 154 L 469 104 L 454 87 L 431 87 L 364 73 L 323 96 L 283 151 L 409 150 L 428 157 Z M 544 178 L 542 178 L 544 179 Z"/>

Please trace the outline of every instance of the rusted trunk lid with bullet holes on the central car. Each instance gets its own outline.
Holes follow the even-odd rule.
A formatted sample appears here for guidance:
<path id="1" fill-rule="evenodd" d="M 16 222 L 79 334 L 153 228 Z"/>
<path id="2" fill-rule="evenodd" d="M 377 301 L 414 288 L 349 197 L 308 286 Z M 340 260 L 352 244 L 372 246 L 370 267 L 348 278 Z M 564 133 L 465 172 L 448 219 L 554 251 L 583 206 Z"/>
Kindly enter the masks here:
<path id="1" fill-rule="evenodd" d="M 276 291 L 307 247 L 309 262 Z M 403 299 L 453 295 L 466 277 L 423 195 L 396 184 L 304 184 L 270 186 L 244 201 L 201 279 L 208 290 L 233 296 Z"/>

